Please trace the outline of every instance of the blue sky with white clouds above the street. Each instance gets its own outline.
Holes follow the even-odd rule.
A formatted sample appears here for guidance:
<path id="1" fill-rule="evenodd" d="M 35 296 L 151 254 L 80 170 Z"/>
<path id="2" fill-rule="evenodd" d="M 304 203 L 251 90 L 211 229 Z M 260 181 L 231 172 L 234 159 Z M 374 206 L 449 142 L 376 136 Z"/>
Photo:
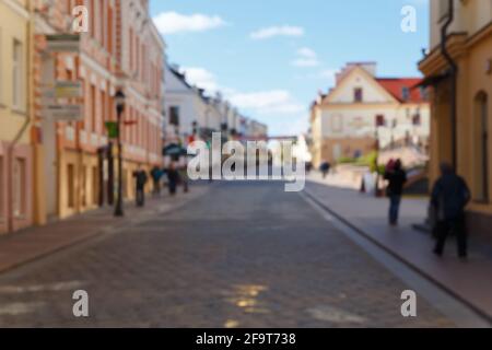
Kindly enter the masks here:
<path id="1" fill-rule="evenodd" d="M 378 77 L 420 77 L 429 0 L 151 0 L 167 58 L 210 94 L 220 91 L 272 136 L 308 128 L 309 104 L 350 61 Z M 401 30 L 405 5 L 417 31 Z"/>

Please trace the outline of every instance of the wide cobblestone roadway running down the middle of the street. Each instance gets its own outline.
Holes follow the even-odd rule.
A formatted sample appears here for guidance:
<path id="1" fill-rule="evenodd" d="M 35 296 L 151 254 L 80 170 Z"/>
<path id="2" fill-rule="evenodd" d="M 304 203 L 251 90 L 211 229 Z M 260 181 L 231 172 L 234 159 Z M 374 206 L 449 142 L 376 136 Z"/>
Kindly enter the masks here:
<path id="1" fill-rule="evenodd" d="M 72 293 L 90 317 L 72 315 Z M 215 183 L 179 210 L 0 276 L 0 326 L 452 327 L 277 183 Z"/>

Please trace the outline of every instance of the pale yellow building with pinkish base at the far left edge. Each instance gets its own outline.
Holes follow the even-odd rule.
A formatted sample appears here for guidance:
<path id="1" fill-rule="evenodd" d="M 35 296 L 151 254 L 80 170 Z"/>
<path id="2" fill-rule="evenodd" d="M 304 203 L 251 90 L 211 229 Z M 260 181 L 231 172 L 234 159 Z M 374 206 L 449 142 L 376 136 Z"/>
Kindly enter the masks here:
<path id="1" fill-rule="evenodd" d="M 0 234 L 32 223 L 30 1 L 0 0 Z"/>

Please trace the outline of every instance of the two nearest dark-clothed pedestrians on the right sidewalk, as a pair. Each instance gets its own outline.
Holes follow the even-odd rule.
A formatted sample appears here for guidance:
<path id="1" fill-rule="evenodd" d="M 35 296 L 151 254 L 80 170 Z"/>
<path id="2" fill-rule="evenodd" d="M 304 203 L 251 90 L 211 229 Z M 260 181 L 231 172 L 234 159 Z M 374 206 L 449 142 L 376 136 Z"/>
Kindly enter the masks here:
<path id="1" fill-rule="evenodd" d="M 386 195 L 389 198 L 389 224 L 398 225 L 398 214 L 407 183 L 407 174 L 401 160 L 390 160 L 385 168 L 385 179 L 388 182 Z M 471 199 L 470 190 L 465 179 L 458 176 L 452 165 L 441 165 L 441 177 L 432 189 L 431 212 L 436 237 L 434 254 L 442 256 L 446 240 L 450 233 L 456 235 L 458 255 L 467 257 L 467 233 L 465 228 L 465 207 Z"/>

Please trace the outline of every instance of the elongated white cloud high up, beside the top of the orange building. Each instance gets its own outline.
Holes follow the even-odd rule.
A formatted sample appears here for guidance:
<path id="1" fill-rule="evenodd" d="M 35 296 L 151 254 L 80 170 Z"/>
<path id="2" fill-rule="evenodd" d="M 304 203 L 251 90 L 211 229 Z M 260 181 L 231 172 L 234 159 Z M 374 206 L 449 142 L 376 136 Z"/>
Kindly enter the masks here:
<path id="1" fill-rule="evenodd" d="M 176 34 L 185 32 L 204 32 L 226 25 L 218 15 L 195 13 L 190 15 L 177 12 L 162 12 L 153 19 L 161 34 Z"/>

